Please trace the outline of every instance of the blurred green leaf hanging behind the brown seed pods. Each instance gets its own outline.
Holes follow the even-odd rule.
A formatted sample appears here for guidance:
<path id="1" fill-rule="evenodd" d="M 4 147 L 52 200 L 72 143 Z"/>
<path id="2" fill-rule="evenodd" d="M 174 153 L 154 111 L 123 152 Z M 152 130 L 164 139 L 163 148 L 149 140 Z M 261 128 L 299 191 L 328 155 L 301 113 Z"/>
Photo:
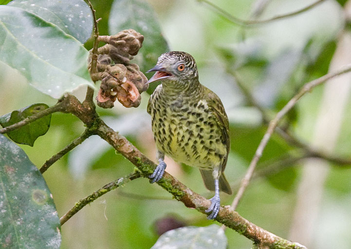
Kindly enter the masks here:
<path id="1" fill-rule="evenodd" d="M 146 1 L 115 0 L 111 7 L 109 29 L 112 35 L 134 29 L 145 37 L 143 47 L 133 61 L 139 65 L 140 71 L 154 67 L 158 57 L 169 51 L 155 12 Z"/>

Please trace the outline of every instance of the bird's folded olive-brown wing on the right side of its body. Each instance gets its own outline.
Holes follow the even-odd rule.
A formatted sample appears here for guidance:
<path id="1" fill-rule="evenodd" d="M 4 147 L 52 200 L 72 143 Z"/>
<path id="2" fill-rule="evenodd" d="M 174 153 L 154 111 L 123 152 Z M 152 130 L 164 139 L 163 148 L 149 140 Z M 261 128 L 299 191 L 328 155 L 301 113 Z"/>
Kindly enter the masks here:
<path id="1" fill-rule="evenodd" d="M 206 88 L 204 99 L 207 102 L 208 108 L 211 110 L 216 118 L 217 125 L 220 127 L 223 135 L 223 139 L 227 149 L 227 155 L 222 164 L 222 171 L 224 171 L 225 165 L 227 163 L 228 154 L 230 150 L 230 138 L 229 138 L 229 121 L 227 114 L 225 113 L 221 99 L 216 93 Z"/>

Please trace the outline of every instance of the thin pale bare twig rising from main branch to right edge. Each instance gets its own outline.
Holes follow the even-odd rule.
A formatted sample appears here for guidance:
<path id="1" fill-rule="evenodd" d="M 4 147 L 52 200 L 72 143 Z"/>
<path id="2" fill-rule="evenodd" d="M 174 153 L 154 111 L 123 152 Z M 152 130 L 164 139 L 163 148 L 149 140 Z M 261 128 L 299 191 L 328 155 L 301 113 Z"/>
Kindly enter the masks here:
<path id="1" fill-rule="evenodd" d="M 253 159 L 250 162 L 249 168 L 245 174 L 245 177 L 242 179 L 241 181 L 241 185 L 240 185 L 240 189 L 237 193 L 237 195 L 235 196 L 233 203 L 232 203 L 232 208 L 235 210 L 239 204 L 239 201 L 247 187 L 247 185 L 250 182 L 250 179 L 252 177 L 252 174 L 254 173 L 254 170 L 256 168 L 256 165 L 259 161 L 259 159 L 262 156 L 262 152 L 263 149 L 266 147 L 269 139 L 271 138 L 275 128 L 277 127 L 279 121 L 281 120 L 281 118 L 291 109 L 293 108 L 297 101 L 307 92 L 309 92 L 310 90 L 312 90 L 314 87 L 324 83 L 325 81 L 338 76 L 340 74 L 346 73 L 346 72 L 350 72 L 351 71 L 351 64 L 346 65 L 343 69 L 335 71 L 335 72 L 331 72 L 328 73 L 318 79 L 315 79 L 311 82 L 306 83 L 301 89 L 300 91 L 277 113 L 276 117 L 269 123 L 268 125 L 268 129 L 266 131 L 266 133 L 264 134 L 261 142 L 259 143 L 259 146 L 255 152 L 255 155 L 253 157 Z"/>

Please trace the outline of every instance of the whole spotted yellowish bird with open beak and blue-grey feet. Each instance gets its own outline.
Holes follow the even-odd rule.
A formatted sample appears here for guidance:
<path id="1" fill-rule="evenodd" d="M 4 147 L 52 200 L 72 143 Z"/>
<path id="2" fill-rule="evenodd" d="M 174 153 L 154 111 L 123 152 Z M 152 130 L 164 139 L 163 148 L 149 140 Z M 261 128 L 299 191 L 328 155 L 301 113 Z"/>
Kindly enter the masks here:
<path id="1" fill-rule="evenodd" d="M 161 81 L 148 101 L 148 113 L 157 147 L 158 165 L 151 182 L 165 172 L 165 155 L 177 162 L 198 167 L 205 187 L 214 191 L 208 219 L 220 210 L 220 191 L 232 194 L 225 178 L 230 150 L 229 122 L 221 99 L 199 82 L 196 61 L 189 53 L 163 53 L 147 83 Z"/>

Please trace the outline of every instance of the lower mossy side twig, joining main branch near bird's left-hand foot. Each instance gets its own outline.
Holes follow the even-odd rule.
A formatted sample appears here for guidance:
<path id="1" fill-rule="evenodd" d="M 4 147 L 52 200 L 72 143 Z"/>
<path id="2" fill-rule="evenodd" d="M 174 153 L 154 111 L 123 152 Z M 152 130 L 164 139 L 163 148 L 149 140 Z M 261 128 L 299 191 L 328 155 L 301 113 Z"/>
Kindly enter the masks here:
<path id="1" fill-rule="evenodd" d="M 79 200 L 77 203 L 74 204 L 74 207 L 71 208 L 67 213 L 65 213 L 61 218 L 60 218 L 60 224 L 61 226 L 68 221 L 75 213 L 77 213 L 79 210 L 81 210 L 83 207 L 85 207 L 87 204 L 93 202 L 97 198 L 99 198 L 102 195 L 105 195 L 106 193 L 110 192 L 113 189 L 118 188 L 119 186 L 122 186 L 126 184 L 127 182 L 134 180 L 136 178 L 140 178 L 141 174 L 139 171 L 134 171 L 124 177 L 118 178 L 117 180 L 114 180 L 108 184 L 106 184 L 104 187 L 101 189 L 95 191 L 91 195 L 85 197 L 84 199 Z"/>

